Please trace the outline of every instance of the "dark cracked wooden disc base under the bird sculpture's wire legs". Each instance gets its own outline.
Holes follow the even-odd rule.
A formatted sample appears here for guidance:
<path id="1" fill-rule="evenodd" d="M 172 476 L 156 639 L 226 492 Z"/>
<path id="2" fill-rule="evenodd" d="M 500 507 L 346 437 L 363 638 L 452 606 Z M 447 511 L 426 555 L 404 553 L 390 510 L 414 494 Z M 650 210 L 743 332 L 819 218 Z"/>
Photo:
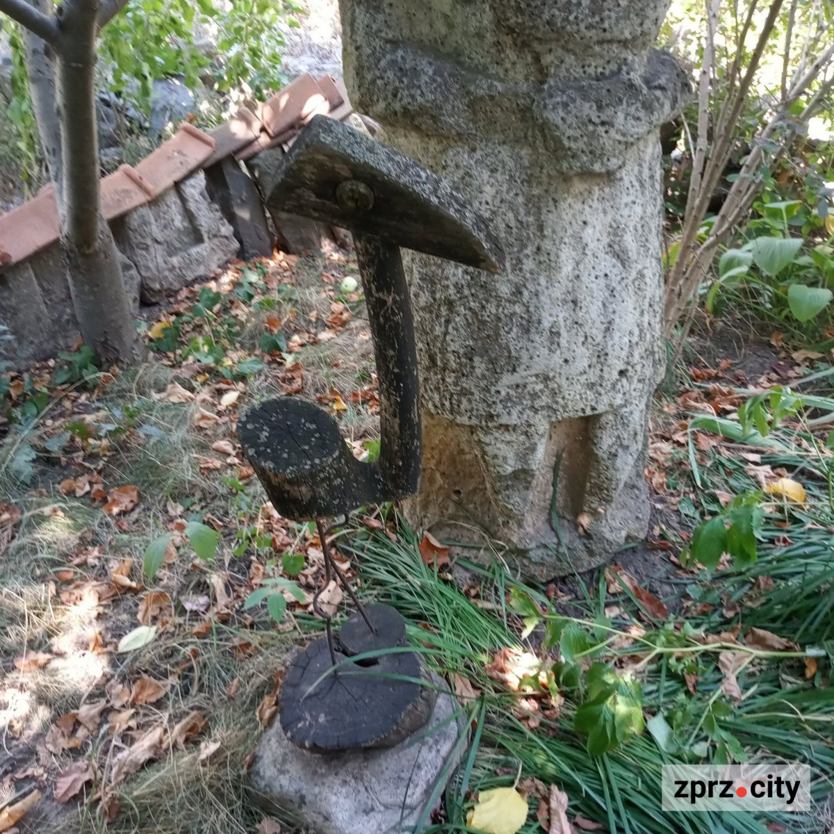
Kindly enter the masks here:
<path id="1" fill-rule="evenodd" d="M 368 609 L 370 631 L 354 614 L 337 638 L 334 668 L 322 638 L 300 651 L 281 687 L 280 722 L 289 741 L 316 753 L 391 747 L 429 720 L 436 691 L 413 651 L 394 651 L 358 662 L 352 655 L 402 648 L 403 618 L 389 605 Z M 361 664 L 361 665 L 360 665 Z"/>

